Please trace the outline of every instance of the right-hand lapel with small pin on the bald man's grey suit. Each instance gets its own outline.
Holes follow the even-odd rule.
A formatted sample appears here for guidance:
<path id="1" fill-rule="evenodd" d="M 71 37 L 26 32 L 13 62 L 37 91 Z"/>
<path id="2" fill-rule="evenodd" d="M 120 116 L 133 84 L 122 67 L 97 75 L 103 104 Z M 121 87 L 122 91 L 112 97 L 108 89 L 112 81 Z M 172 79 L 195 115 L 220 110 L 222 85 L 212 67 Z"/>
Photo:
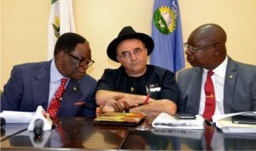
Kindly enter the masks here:
<path id="1" fill-rule="evenodd" d="M 227 108 L 232 106 L 234 87 L 236 82 L 236 64 L 229 58 L 225 81 L 224 81 L 224 113 L 227 113 Z"/>

